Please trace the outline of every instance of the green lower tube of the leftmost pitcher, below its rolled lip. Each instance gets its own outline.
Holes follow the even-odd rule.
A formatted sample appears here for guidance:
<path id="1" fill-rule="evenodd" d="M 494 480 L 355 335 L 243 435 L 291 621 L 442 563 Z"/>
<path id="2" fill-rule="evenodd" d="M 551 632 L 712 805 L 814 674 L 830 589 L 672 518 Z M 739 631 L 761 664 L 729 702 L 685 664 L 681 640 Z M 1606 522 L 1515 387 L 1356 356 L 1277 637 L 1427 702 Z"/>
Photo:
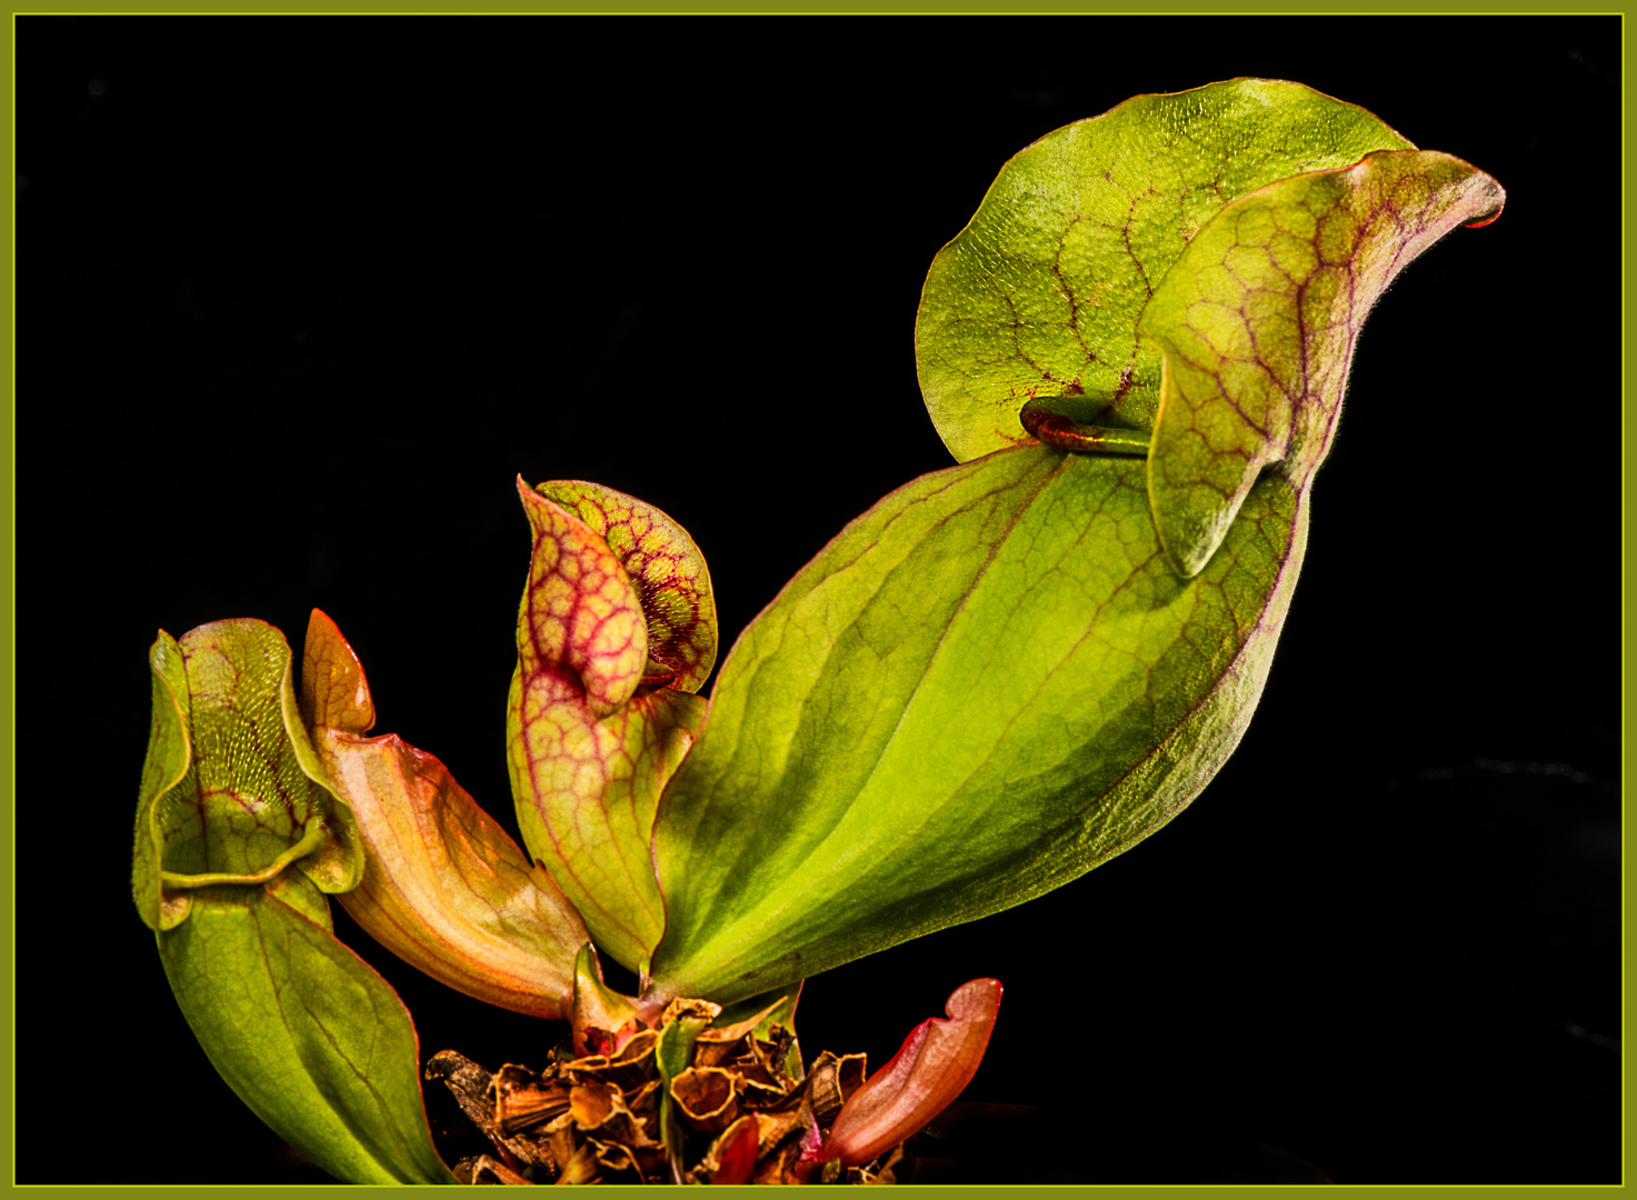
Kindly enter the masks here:
<path id="1" fill-rule="evenodd" d="M 190 920 L 156 935 L 182 1012 L 232 1090 L 324 1171 L 352 1184 L 452 1184 L 421 1107 L 409 1013 L 311 918 L 322 910 L 301 874 L 272 891 L 195 889 Z"/>

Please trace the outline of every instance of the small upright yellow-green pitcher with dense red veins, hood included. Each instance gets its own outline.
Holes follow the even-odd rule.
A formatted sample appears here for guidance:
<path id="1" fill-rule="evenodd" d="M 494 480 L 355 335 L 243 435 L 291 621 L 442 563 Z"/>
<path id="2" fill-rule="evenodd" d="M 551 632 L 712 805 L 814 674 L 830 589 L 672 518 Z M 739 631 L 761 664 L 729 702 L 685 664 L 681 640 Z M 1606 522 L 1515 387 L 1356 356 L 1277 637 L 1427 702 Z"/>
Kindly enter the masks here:
<path id="1" fill-rule="evenodd" d="M 706 711 L 666 684 L 697 688 L 715 660 L 710 580 L 658 509 L 594 485 L 542 488 L 575 511 L 517 481 L 534 530 L 506 725 L 517 822 L 596 943 L 645 972 L 665 928 L 653 815 Z"/>

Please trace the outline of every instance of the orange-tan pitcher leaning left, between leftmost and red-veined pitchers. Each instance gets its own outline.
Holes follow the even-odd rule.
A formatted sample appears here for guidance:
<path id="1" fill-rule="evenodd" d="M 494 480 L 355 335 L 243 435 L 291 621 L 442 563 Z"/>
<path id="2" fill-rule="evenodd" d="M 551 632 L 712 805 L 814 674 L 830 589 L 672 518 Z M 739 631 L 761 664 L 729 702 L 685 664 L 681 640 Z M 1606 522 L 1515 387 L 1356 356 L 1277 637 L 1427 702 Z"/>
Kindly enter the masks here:
<path id="1" fill-rule="evenodd" d="M 437 758 L 396 733 L 363 737 L 375 706 L 336 622 L 313 611 L 301 712 L 336 794 L 368 848 L 340 904 L 434 979 L 512 1012 L 566 1020 L 588 933 L 547 873 Z"/>

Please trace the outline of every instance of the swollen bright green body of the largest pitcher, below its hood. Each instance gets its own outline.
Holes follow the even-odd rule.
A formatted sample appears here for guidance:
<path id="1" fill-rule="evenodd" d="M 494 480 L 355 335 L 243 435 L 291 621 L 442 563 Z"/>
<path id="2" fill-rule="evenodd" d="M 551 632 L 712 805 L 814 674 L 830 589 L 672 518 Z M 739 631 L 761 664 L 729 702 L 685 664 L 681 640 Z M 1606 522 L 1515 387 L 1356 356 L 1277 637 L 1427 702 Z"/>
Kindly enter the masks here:
<path id="1" fill-rule="evenodd" d="M 1020 904 L 1238 743 L 1305 545 L 1265 475 L 1166 563 L 1143 460 L 1017 447 L 900 488 L 733 647 L 666 791 L 656 997 L 720 1004 Z"/>

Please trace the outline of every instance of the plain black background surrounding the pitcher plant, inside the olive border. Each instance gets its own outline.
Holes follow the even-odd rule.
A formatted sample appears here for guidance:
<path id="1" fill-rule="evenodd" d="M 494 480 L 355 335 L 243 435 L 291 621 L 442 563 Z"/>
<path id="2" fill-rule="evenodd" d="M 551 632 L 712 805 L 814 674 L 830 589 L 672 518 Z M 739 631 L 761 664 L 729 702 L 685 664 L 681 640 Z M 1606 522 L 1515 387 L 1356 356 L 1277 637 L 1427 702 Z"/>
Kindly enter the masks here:
<path id="1" fill-rule="evenodd" d="M 210 1071 L 129 900 L 156 629 L 324 607 L 378 732 L 511 823 L 516 473 L 686 524 L 725 647 L 948 465 L 915 305 L 1002 162 L 1265 75 L 1483 167 L 1506 213 L 1359 342 L 1236 758 L 1049 897 L 812 979 L 802 1040 L 879 1064 L 1003 979 L 967 1098 L 1043 1112 L 964 1136 L 967 1179 L 1257 1182 L 1277 1148 L 1337 1182 L 1616 1182 L 1619 36 L 20 20 L 18 1179 L 318 1179 Z M 354 945 L 424 1053 L 560 1035 Z"/>

